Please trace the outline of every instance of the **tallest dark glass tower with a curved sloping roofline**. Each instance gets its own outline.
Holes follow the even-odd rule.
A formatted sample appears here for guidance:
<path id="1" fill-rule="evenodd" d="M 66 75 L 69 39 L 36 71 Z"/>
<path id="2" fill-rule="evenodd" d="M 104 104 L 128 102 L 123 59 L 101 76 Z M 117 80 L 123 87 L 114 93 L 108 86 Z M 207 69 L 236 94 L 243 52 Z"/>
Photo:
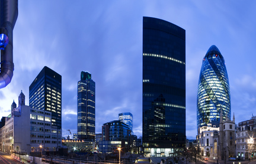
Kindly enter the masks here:
<path id="1" fill-rule="evenodd" d="M 143 147 L 169 156 L 185 147 L 185 30 L 143 17 Z"/>

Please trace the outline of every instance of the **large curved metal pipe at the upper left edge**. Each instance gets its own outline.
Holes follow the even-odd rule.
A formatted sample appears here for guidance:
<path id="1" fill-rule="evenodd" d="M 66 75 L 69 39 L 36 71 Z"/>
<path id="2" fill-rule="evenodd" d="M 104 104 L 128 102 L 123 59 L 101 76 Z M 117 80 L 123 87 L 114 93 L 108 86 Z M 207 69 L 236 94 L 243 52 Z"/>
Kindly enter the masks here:
<path id="1" fill-rule="evenodd" d="M 1 50 L 0 88 L 4 88 L 11 82 L 14 71 L 12 35 L 18 17 L 18 0 L 1 0 L 0 9 L 1 29 L 5 29 L 9 39 L 4 50 Z"/>

